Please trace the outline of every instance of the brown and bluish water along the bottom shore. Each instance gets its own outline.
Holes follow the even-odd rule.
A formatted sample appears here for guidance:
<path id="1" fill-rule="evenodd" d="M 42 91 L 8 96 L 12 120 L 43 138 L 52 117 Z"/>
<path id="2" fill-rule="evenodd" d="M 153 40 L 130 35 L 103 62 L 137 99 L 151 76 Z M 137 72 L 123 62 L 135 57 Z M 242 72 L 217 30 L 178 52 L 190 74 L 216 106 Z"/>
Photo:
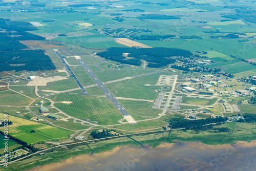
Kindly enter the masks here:
<path id="1" fill-rule="evenodd" d="M 80 155 L 29 171 L 76 170 L 256 170 L 256 141 L 235 145 L 200 142 L 163 143 L 156 148 L 133 145 L 100 154 Z"/>

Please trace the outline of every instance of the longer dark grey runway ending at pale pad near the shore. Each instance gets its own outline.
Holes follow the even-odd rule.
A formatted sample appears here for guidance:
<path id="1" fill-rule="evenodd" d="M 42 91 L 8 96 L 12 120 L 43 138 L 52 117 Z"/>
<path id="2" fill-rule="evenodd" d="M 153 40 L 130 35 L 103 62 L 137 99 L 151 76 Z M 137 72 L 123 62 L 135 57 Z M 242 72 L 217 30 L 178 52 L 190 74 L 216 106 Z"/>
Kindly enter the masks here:
<path id="1" fill-rule="evenodd" d="M 81 64 L 81 66 L 88 72 L 88 74 L 93 78 L 93 80 L 98 84 L 100 89 L 105 93 L 106 97 L 108 97 L 116 108 L 121 112 L 123 116 L 131 116 L 119 103 L 119 101 L 112 95 L 112 93 L 104 86 L 104 84 L 99 80 L 99 78 L 92 72 L 92 70 L 83 62 L 82 59 L 77 59 L 77 61 Z"/>

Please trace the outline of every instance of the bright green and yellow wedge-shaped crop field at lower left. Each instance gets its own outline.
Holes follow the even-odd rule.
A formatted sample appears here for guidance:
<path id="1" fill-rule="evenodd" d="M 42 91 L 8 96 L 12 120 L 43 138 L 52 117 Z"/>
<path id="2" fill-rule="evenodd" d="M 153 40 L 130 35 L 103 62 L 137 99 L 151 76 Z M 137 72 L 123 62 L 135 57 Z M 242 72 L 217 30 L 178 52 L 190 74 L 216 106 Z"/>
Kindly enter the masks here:
<path id="1" fill-rule="evenodd" d="M 0 114 L 0 118 L 4 119 L 4 115 Z M 28 144 L 33 144 L 39 141 L 69 138 L 69 135 L 73 133 L 71 131 L 17 118 L 11 115 L 8 116 L 8 119 L 13 122 L 13 124 L 8 126 L 8 133 Z M 3 127 L 1 127 L 0 130 L 3 131 Z M 35 133 L 30 133 L 31 130 L 35 130 Z"/>

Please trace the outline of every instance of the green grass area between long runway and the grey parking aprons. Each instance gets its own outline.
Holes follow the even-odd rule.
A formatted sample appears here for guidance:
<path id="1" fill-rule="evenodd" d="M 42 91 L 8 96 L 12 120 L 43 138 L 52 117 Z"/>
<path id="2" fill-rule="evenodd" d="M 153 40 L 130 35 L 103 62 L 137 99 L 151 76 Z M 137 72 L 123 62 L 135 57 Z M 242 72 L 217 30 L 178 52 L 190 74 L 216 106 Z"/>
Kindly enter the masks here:
<path id="1" fill-rule="evenodd" d="M 160 75 L 163 73 L 147 75 L 143 77 L 109 83 L 105 86 L 117 97 L 138 98 L 155 100 L 158 96 L 156 89 L 160 86 L 144 86 L 144 84 L 156 84 Z"/>

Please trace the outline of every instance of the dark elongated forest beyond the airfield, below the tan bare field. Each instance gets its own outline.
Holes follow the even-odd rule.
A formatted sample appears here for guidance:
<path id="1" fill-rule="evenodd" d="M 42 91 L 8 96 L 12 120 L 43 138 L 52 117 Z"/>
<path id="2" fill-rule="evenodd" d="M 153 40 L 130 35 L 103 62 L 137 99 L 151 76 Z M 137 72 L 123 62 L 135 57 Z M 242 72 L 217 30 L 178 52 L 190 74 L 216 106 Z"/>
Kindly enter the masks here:
<path id="1" fill-rule="evenodd" d="M 123 53 L 129 53 L 127 57 L 133 57 L 132 59 L 126 59 Z M 98 56 L 105 59 L 111 59 L 114 61 L 127 63 L 130 65 L 141 65 L 141 60 L 146 60 L 147 67 L 160 68 L 170 63 L 174 63 L 176 60 L 173 56 L 189 57 L 191 52 L 182 49 L 174 48 L 109 48 L 108 51 L 97 53 Z"/>

